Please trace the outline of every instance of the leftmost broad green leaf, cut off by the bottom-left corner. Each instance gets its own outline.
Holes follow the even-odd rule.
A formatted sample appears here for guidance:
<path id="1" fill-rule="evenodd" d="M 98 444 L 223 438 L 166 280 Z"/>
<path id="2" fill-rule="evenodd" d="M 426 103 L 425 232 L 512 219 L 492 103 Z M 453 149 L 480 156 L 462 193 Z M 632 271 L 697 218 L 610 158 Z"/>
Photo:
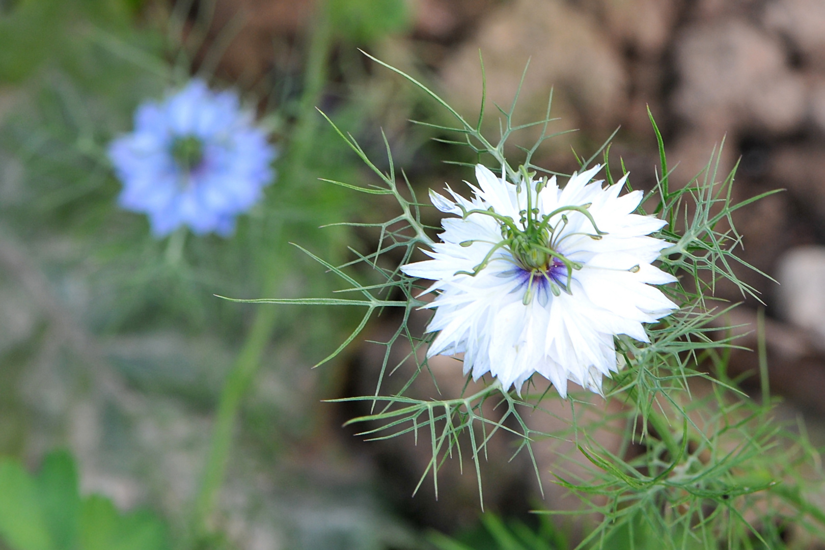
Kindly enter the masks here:
<path id="1" fill-rule="evenodd" d="M 19 463 L 0 461 L 0 536 L 12 550 L 55 548 L 43 519 L 37 485 Z"/>

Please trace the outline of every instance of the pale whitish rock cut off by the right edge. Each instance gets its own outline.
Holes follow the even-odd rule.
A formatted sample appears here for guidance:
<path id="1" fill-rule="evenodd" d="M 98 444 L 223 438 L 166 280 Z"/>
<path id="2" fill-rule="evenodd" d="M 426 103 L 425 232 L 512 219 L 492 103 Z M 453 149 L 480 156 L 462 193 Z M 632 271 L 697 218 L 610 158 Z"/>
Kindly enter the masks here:
<path id="1" fill-rule="evenodd" d="M 796 327 L 825 341 L 825 247 L 795 247 L 779 261 L 777 308 Z"/>

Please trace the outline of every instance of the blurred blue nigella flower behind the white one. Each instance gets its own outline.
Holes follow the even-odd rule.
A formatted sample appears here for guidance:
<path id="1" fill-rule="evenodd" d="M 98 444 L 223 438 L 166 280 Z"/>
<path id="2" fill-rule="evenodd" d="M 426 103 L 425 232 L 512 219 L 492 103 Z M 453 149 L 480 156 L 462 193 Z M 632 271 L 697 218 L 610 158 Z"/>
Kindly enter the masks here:
<path id="1" fill-rule="evenodd" d="M 181 225 L 227 236 L 272 181 L 276 150 L 237 94 L 195 79 L 139 106 L 134 131 L 111 143 L 109 157 L 123 183 L 120 205 L 148 214 L 157 237 Z"/>

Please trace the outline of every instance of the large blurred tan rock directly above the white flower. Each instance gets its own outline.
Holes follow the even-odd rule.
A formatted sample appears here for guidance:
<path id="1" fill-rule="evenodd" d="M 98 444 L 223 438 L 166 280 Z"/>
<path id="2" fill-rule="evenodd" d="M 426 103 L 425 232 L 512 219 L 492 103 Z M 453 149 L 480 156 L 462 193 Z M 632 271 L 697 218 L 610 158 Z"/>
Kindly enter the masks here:
<path id="1" fill-rule="evenodd" d="M 470 120 L 478 113 L 481 98 L 479 49 L 487 75 L 486 120 L 491 134 L 497 134 L 499 118 L 493 101 L 509 108 L 528 59 L 516 124 L 544 118 L 551 87 L 555 91 L 551 116 L 563 117 L 553 130 L 583 122 L 609 128 L 625 105 L 627 82 L 620 55 L 594 18 L 568 2 L 508 2 L 490 12 L 474 39 L 446 60 L 441 78 L 447 96 Z M 535 134 L 518 143 L 531 145 Z"/>

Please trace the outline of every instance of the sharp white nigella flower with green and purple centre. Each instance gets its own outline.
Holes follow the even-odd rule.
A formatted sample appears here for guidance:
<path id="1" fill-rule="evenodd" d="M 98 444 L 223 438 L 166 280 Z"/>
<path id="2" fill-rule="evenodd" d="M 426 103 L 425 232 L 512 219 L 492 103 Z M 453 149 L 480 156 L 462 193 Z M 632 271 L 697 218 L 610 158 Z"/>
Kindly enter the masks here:
<path id="1" fill-rule="evenodd" d="M 433 259 L 403 272 L 435 280 L 427 331 L 440 331 L 427 352 L 464 354 L 464 374 L 497 377 L 507 390 L 534 373 L 562 397 L 568 380 L 601 393 L 602 376 L 616 371 L 614 337 L 648 341 L 642 323 L 676 304 L 652 284 L 676 280 L 651 265 L 667 243 L 649 237 L 665 222 L 633 214 L 641 191 L 619 196 L 591 181 L 601 167 L 573 174 L 563 189 L 555 177 L 534 179 L 522 169 L 518 185 L 487 168 L 466 200 L 431 192 L 445 218 Z"/>

